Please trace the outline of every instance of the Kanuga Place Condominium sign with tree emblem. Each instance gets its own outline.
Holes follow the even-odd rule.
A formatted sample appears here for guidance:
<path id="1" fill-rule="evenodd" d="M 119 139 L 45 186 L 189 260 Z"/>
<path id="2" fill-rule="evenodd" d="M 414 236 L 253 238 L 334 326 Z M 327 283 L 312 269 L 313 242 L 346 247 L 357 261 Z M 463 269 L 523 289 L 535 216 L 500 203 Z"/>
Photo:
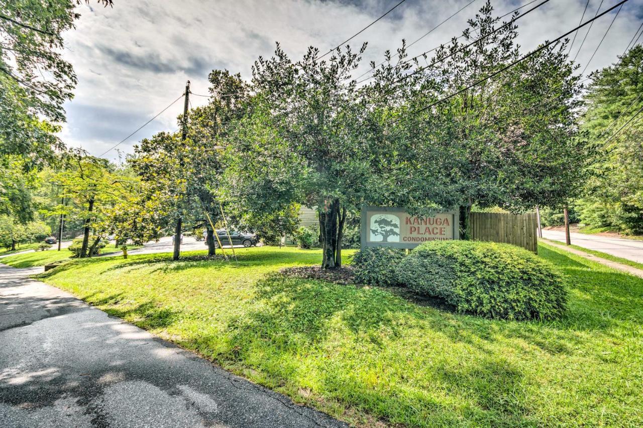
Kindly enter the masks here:
<path id="1" fill-rule="evenodd" d="M 404 208 L 362 207 L 362 247 L 415 248 L 422 242 L 453 239 L 460 239 L 460 218 L 456 211 L 422 217 L 411 215 Z"/>

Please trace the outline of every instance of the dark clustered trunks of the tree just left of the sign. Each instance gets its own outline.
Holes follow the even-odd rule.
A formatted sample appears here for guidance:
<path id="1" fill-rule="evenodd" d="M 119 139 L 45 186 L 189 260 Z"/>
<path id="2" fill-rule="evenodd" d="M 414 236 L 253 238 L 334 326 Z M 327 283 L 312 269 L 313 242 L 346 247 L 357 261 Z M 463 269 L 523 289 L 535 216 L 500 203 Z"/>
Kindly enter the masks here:
<path id="1" fill-rule="evenodd" d="M 320 243 L 321 243 L 321 267 L 322 269 L 335 269 L 341 267 L 341 238 L 345 210 L 340 216 L 340 201 L 335 199 L 327 202 L 320 215 Z"/>

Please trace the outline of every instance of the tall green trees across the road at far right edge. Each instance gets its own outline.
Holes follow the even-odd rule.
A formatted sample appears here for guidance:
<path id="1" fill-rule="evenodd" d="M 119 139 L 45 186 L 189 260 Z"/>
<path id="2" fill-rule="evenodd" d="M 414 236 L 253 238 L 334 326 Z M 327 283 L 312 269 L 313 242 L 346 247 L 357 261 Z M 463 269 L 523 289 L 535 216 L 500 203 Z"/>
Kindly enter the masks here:
<path id="1" fill-rule="evenodd" d="M 583 129 L 599 155 L 593 157 L 592 177 L 576 203 L 581 223 L 588 227 L 643 234 L 643 121 L 634 119 L 612 138 L 643 107 L 642 73 L 643 45 L 638 44 L 595 73 L 586 94 Z"/>

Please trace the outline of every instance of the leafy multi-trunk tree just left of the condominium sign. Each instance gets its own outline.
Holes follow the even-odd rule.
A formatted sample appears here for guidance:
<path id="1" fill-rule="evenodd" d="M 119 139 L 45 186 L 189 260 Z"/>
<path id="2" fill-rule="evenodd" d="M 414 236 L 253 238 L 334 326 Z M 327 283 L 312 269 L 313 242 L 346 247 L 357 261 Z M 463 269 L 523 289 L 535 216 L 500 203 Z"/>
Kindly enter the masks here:
<path id="1" fill-rule="evenodd" d="M 392 177 L 369 98 L 350 79 L 365 48 L 329 60 L 309 48 L 294 62 L 277 46 L 275 57 L 255 62 L 252 108 L 228 138 L 228 197 L 245 199 L 254 213 L 293 202 L 318 210 L 325 268 L 341 266 L 349 211 Z"/>

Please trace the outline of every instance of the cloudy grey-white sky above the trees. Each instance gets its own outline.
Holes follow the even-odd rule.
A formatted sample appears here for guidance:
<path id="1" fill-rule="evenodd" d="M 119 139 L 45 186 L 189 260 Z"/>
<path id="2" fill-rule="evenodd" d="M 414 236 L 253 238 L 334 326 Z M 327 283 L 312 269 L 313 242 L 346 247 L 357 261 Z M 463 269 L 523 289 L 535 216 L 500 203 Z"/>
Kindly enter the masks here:
<path id="1" fill-rule="evenodd" d="M 351 44 L 368 41 L 361 74 L 371 59 L 380 62 L 386 49 L 402 39 L 413 42 L 471 0 L 406 0 Z M 466 20 L 486 0 L 475 0 L 410 49 L 411 55 L 434 48 L 460 35 Z M 492 0 L 498 15 L 530 0 Z M 94 2 L 92 2 L 94 3 Z M 258 56 L 269 57 L 281 42 L 293 58 L 308 46 L 321 51 L 336 46 L 361 30 L 399 0 L 114 0 L 114 8 L 95 4 L 80 6 L 77 28 L 66 34 L 65 57 L 78 75 L 76 97 L 66 105 L 68 123 L 60 134 L 73 147 L 93 155 L 127 137 L 131 132 L 176 100 L 192 82 L 192 92 L 207 94 L 208 72 L 227 68 L 251 76 Z M 540 3 L 523 8 L 521 12 Z M 544 40 L 571 30 L 581 19 L 586 0 L 550 0 L 516 22 L 523 52 Z M 618 0 L 590 0 L 583 22 Z M 578 61 L 584 67 L 605 35 L 616 10 L 594 22 Z M 616 60 L 635 35 L 643 19 L 643 0 L 625 3 L 588 67 L 607 66 Z M 585 29 L 579 31 L 572 56 L 581 46 Z M 639 39 L 643 42 L 643 37 Z M 581 67 L 582 69 L 582 67 Z M 194 96 L 192 105 L 207 98 Z M 132 151 L 141 138 L 160 130 L 177 129 L 179 100 L 156 120 L 118 147 Z M 118 158 L 118 150 L 105 157 Z"/>

